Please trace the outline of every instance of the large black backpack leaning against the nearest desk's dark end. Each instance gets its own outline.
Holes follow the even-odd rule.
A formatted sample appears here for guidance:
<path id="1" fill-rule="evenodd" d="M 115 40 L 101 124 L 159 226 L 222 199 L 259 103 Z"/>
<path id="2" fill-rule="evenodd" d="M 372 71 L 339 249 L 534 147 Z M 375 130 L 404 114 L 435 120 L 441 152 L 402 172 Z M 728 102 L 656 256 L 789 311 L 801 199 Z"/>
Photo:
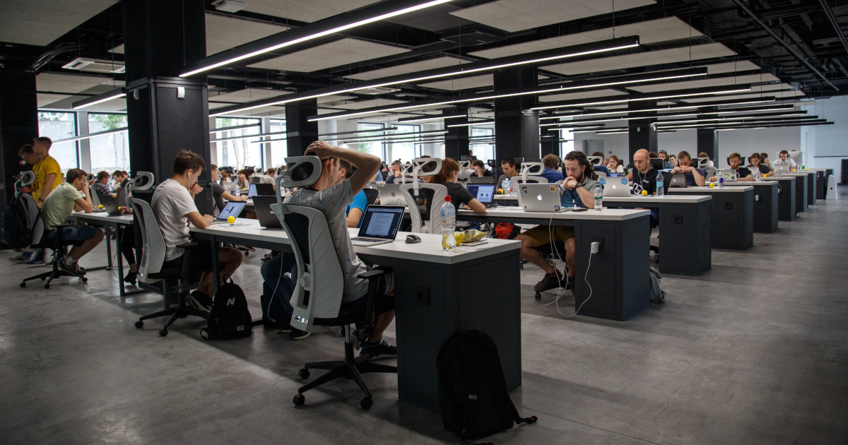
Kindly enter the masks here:
<path id="1" fill-rule="evenodd" d="M 506 392 L 498 348 L 485 332 L 454 334 L 439 349 L 436 366 L 444 429 L 463 442 L 510 429 L 513 422 L 538 420 L 518 415 Z"/>

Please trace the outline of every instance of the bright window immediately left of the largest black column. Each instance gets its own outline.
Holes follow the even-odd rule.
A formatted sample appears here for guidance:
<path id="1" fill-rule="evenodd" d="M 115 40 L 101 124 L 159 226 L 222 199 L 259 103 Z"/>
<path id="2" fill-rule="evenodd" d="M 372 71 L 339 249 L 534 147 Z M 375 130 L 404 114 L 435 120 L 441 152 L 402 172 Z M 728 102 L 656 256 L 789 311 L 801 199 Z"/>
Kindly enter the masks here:
<path id="1" fill-rule="evenodd" d="M 88 114 L 88 132 L 120 130 L 127 128 L 126 114 Z M 106 170 L 130 171 L 129 132 L 115 131 L 88 140 L 92 159 L 92 173 Z"/>

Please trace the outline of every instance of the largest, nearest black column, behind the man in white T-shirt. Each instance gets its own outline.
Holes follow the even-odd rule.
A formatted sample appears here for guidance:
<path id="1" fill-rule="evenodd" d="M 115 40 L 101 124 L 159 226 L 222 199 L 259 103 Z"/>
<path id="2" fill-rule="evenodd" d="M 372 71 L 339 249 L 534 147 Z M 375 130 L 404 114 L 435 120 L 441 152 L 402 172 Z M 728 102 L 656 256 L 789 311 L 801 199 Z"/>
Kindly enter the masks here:
<path id="1" fill-rule="evenodd" d="M 157 183 L 173 174 L 180 150 L 212 164 L 204 75 L 179 77 L 206 56 L 204 0 L 126 0 L 126 109 L 133 173 L 153 172 Z M 209 172 L 204 171 L 209 179 Z"/>

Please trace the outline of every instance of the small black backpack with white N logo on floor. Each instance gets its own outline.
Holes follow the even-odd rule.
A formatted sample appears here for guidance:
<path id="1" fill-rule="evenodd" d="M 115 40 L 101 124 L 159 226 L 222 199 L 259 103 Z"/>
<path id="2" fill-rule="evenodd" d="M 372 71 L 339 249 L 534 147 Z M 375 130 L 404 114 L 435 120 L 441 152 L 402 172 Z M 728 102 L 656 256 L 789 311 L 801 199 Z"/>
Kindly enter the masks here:
<path id="1" fill-rule="evenodd" d="M 248 299 L 236 283 L 225 282 L 218 287 L 212 301 L 207 325 L 200 330 L 204 340 L 230 340 L 250 337 L 254 332 L 254 320 L 248 310 Z"/>

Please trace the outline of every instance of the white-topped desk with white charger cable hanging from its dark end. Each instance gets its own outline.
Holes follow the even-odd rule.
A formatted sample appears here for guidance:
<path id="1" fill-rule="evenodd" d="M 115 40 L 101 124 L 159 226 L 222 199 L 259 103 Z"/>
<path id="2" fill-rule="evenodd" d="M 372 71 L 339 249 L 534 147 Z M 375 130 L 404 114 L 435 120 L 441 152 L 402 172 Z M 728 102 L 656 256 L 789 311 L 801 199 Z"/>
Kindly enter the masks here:
<path id="1" fill-rule="evenodd" d="M 649 268 L 646 258 L 650 252 L 650 212 L 648 210 L 604 209 L 601 212 L 525 212 L 517 207 L 486 209 L 485 214 L 460 210 L 457 219 L 516 224 L 571 225 L 574 227 L 576 276 L 586 276 L 591 283 L 592 297 L 586 281 L 575 280 L 575 309 L 589 301 L 580 314 L 611 320 L 627 320 L 650 304 Z M 592 258 L 591 243 L 600 242 L 599 253 Z M 492 277 L 488 273 L 487 279 Z"/>

